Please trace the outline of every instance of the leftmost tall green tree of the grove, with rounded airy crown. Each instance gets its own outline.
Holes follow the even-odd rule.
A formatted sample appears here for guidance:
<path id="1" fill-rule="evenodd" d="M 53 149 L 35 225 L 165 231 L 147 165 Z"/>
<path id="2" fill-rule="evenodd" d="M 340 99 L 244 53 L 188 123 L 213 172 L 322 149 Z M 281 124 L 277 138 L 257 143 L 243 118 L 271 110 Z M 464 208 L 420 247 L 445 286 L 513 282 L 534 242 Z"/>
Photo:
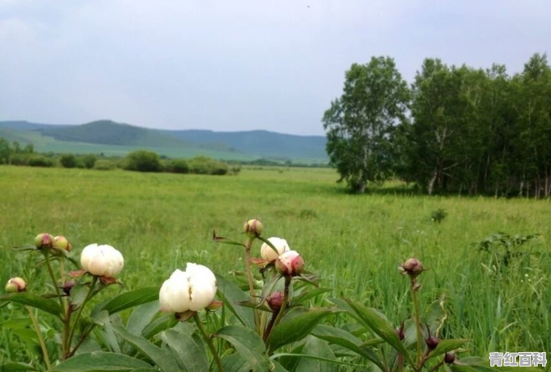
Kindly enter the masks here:
<path id="1" fill-rule="evenodd" d="M 391 136 L 406 119 L 409 90 L 390 57 L 372 57 L 346 71 L 343 93 L 323 116 L 331 165 L 354 192 L 393 170 Z"/>

